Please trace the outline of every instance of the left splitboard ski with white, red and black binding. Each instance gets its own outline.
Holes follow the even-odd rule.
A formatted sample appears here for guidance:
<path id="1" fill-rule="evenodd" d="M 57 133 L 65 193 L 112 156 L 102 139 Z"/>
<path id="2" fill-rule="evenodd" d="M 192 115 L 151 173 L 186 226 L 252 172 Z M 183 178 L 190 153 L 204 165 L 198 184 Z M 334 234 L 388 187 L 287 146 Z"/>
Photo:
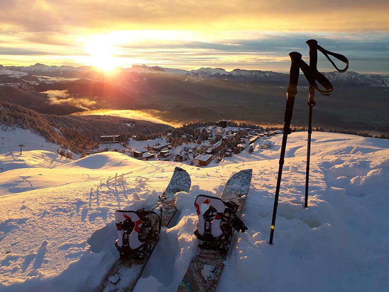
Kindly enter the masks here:
<path id="1" fill-rule="evenodd" d="M 155 205 L 154 211 L 117 210 L 115 223 L 118 230 L 116 248 L 120 257 L 106 276 L 99 292 L 131 292 L 147 260 L 159 240 L 161 227 L 167 227 L 175 215 L 175 194 L 189 192 L 191 178 L 182 168 L 176 166 L 170 183 Z"/>

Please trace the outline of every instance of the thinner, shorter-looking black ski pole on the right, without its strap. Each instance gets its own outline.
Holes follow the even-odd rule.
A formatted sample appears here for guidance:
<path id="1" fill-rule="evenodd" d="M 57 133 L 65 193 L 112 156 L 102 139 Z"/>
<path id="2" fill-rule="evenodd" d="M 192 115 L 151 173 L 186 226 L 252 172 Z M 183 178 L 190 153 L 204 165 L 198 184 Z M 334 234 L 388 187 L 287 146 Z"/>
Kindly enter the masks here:
<path id="1" fill-rule="evenodd" d="M 307 40 L 306 43 L 309 46 L 309 67 L 311 70 L 317 69 L 318 64 L 318 51 L 316 45 L 318 41 L 315 39 Z M 308 91 L 308 141 L 307 141 L 307 167 L 306 167 L 306 176 L 305 176 L 305 204 L 304 208 L 308 207 L 308 185 L 309 185 L 309 164 L 311 160 L 311 136 L 312 136 L 312 111 L 313 107 L 316 105 L 315 102 L 315 87 L 312 84 L 309 84 Z"/>

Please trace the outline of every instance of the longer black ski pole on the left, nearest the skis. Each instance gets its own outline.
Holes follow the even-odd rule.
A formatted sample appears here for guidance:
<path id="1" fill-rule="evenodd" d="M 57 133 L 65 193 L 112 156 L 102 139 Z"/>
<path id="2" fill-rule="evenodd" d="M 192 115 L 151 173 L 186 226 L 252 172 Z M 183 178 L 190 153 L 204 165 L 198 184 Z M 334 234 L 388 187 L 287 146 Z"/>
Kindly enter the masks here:
<path id="1" fill-rule="evenodd" d="M 291 133 L 290 123 L 292 121 L 293 106 L 295 102 L 295 96 L 297 94 L 297 83 L 299 81 L 299 73 L 300 73 L 299 61 L 301 60 L 301 54 L 298 52 L 292 52 L 289 53 L 289 57 L 291 59 L 290 72 L 289 72 L 289 85 L 286 90 L 286 107 L 285 107 L 285 117 L 283 120 L 283 142 L 281 145 L 281 154 L 280 154 L 280 161 L 279 161 L 280 165 L 278 168 L 276 195 L 274 198 L 274 207 L 273 207 L 273 217 L 271 219 L 270 240 L 269 240 L 270 244 L 273 244 L 274 227 L 276 225 L 278 197 L 280 194 L 281 176 L 283 172 L 286 141 L 288 139 L 288 135 Z"/>

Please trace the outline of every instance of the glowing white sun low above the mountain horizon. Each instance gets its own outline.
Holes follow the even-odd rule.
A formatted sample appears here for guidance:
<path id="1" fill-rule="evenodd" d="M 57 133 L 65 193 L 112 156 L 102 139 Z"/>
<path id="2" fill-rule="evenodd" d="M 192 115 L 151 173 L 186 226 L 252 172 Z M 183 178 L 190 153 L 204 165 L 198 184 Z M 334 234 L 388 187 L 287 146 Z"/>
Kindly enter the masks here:
<path id="1" fill-rule="evenodd" d="M 121 66 L 118 48 L 113 39 L 104 36 L 95 36 L 84 42 L 84 50 L 88 54 L 86 63 L 104 71 L 112 71 Z"/>

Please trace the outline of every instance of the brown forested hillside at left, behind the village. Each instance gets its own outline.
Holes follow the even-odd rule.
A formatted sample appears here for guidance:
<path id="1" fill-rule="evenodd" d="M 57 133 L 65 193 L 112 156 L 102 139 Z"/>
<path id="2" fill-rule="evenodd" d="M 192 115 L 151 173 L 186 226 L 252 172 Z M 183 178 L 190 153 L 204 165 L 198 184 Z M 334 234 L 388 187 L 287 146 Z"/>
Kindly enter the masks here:
<path id="1" fill-rule="evenodd" d="M 131 125 L 131 126 L 129 126 Z M 41 114 L 18 105 L 0 101 L 0 127 L 31 129 L 48 142 L 63 145 L 75 153 L 97 147 L 102 135 L 132 135 L 139 139 L 159 136 L 172 127 L 148 121 L 114 116 L 72 116 Z M 59 130 L 59 133 L 54 128 Z M 27 139 L 25 140 L 26 145 Z"/>

